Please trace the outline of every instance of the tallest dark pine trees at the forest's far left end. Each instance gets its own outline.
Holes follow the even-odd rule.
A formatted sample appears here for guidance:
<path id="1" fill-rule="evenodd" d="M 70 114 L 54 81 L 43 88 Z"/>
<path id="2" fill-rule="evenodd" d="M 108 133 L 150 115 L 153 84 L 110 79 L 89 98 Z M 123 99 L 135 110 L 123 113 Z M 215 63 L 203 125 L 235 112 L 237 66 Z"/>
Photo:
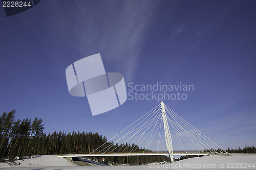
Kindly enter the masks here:
<path id="1" fill-rule="evenodd" d="M 40 152 L 41 137 L 44 134 L 42 119 L 35 117 L 15 120 L 15 110 L 4 112 L 0 117 L 0 160 L 23 158 Z"/>

